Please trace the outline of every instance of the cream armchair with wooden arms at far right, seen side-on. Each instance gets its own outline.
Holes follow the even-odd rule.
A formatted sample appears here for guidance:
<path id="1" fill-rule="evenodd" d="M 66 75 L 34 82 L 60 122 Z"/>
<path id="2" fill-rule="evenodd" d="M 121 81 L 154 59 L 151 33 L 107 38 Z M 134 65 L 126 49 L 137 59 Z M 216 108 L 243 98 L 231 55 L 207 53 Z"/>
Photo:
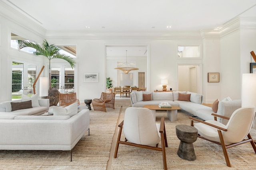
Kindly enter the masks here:
<path id="1" fill-rule="evenodd" d="M 256 146 L 249 133 L 254 120 L 254 114 L 255 107 L 248 106 L 236 109 L 230 118 L 215 113 L 212 113 L 214 120 L 202 121 L 194 117 L 189 118 L 192 119 L 191 126 L 198 129 L 198 137 L 222 146 L 226 164 L 231 167 L 227 152 L 228 148 L 250 142 L 256 153 Z M 229 119 L 227 125 L 218 122 L 217 117 Z M 194 121 L 200 123 L 194 123 Z"/>

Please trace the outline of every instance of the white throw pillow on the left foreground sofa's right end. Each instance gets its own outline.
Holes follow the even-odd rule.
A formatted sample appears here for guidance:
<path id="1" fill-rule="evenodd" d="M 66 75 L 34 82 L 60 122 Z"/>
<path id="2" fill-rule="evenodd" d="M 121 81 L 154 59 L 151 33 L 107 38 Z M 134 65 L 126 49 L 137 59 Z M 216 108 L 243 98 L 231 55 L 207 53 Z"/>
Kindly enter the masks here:
<path id="1" fill-rule="evenodd" d="M 78 106 L 77 102 L 70 104 L 67 107 L 52 106 L 53 115 L 69 115 L 72 117 L 77 114 Z"/>

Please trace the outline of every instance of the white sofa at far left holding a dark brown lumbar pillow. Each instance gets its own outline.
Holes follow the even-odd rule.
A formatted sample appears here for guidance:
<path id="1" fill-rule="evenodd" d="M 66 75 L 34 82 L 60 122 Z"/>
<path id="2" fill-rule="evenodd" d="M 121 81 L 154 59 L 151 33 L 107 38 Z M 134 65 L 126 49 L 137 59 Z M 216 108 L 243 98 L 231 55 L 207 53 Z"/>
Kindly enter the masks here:
<path id="1" fill-rule="evenodd" d="M 32 101 L 32 108 L 12 111 L 11 102 L 22 102 L 22 99 L 0 103 L 0 115 L 41 115 L 42 113 L 47 112 L 50 107 L 49 99 L 36 98 Z"/>

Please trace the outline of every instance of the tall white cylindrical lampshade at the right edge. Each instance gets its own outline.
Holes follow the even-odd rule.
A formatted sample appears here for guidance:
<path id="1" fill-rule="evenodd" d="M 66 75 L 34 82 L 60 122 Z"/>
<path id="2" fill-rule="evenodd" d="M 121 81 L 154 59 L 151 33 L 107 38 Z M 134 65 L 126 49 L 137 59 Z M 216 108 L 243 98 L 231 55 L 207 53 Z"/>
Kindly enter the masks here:
<path id="1" fill-rule="evenodd" d="M 256 74 L 242 74 L 242 107 L 256 107 Z"/>

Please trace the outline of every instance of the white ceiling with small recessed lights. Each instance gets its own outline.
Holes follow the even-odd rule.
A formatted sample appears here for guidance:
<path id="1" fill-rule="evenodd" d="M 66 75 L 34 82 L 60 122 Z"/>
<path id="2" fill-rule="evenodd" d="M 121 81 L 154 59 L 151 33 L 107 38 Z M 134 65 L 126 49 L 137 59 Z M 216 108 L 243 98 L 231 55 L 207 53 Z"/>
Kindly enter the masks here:
<path id="1" fill-rule="evenodd" d="M 46 30 L 200 31 L 237 16 L 256 16 L 256 0 L 2 1 Z"/>

